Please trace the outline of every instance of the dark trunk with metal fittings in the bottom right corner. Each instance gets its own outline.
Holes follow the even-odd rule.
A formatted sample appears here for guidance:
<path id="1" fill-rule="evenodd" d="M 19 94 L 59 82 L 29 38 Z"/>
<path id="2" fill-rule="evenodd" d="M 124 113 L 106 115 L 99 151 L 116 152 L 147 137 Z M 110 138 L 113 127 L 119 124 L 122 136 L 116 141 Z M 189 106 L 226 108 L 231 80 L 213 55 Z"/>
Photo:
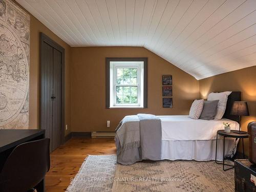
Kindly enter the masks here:
<path id="1" fill-rule="evenodd" d="M 256 192 L 256 165 L 248 159 L 234 160 L 234 183 L 236 191 Z"/>

